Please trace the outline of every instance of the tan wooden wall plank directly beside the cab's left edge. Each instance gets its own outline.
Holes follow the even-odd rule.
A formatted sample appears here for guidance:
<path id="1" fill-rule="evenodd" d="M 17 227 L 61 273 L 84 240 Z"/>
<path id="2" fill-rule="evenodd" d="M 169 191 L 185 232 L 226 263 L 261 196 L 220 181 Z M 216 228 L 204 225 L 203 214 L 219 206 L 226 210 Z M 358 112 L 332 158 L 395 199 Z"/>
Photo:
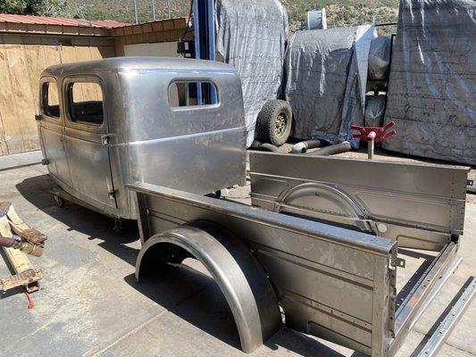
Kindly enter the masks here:
<path id="1" fill-rule="evenodd" d="M 37 150 L 39 141 L 35 121 L 35 95 L 29 82 L 24 45 L 8 46 L 6 53 L 12 80 L 13 100 L 17 106 L 17 120 L 20 122 L 24 149 L 25 151 Z"/>

